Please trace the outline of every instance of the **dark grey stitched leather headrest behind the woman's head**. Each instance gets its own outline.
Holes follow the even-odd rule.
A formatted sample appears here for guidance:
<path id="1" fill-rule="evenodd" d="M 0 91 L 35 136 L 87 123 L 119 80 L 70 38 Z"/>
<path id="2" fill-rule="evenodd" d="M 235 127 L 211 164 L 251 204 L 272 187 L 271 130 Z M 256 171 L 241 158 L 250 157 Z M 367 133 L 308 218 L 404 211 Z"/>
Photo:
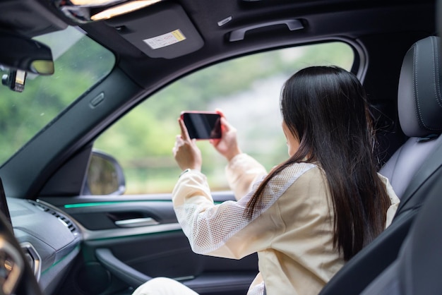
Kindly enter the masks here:
<path id="1" fill-rule="evenodd" d="M 414 43 L 400 70 L 398 113 L 409 137 L 442 133 L 441 44 L 439 37 Z"/>

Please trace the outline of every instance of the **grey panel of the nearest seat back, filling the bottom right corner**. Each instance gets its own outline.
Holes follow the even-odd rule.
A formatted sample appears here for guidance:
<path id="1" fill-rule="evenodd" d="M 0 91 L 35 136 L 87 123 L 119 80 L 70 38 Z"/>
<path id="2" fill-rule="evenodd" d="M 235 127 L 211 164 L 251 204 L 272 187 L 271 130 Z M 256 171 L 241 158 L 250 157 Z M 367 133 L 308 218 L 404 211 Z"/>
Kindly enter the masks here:
<path id="1" fill-rule="evenodd" d="M 364 289 L 362 295 L 441 294 L 442 169 L 407 235 L 398 259 Z"/>

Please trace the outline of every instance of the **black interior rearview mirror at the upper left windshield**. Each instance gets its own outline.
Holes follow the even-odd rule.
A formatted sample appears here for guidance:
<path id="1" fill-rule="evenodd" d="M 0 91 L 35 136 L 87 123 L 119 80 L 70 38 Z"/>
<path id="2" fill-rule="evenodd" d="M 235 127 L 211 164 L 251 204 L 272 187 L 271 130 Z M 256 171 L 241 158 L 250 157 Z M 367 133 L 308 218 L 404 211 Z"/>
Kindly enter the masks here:
<path id="1" fill-rule="evenodd" d="M 0 31 L 0 65 L 11 71 L 52 75 L 54 61 L 47 45 L 22 35 Z"/>

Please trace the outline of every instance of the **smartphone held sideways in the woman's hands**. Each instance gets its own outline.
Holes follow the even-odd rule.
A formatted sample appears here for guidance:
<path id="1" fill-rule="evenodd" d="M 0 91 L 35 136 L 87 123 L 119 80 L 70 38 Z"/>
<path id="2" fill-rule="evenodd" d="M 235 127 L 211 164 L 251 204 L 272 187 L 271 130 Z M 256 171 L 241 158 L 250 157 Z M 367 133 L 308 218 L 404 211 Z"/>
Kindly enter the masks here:
<path id="1" fill-rule="evenodd" d="M 216 112 L 181 112 L 181 119 L 186 125 L 190 138 L 221 138 L 221 116 Z"/>

